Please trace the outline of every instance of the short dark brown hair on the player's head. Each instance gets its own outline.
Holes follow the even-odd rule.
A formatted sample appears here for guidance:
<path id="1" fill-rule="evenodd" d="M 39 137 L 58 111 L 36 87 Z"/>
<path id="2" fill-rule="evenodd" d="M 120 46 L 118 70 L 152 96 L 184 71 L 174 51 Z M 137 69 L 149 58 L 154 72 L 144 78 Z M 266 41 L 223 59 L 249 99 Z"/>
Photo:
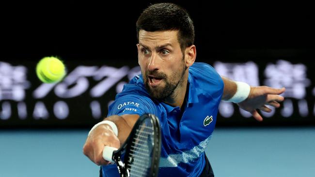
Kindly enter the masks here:
<path id="1" fill-rule="evenodd" d="M 173 3 L 157 3 L 144 9 L 137 20 L 137 38 L 139 31 L 178 30 L 178 42 L 182 51 L 194 43 L 195 30 L 188 12 Z"/>

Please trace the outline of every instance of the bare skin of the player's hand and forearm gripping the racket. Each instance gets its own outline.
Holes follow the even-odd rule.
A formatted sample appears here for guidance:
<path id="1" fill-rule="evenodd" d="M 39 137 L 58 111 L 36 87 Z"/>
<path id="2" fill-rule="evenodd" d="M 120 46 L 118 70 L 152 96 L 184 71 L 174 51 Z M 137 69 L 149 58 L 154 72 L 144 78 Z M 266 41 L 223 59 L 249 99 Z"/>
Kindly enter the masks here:
<path id="1" fill-rule="evenodd" d="M 87 137 L 83 146 L 83 153 L 97 165 L 106 165 L 110 162 L 103 159 L 102 153 L 105 146 L 120 148 L 129 136 L 139 115 L 110 116 L 104 120 L 114 122 L 118 129 L 118 137 L 108 124 L 97 126 Z"/>

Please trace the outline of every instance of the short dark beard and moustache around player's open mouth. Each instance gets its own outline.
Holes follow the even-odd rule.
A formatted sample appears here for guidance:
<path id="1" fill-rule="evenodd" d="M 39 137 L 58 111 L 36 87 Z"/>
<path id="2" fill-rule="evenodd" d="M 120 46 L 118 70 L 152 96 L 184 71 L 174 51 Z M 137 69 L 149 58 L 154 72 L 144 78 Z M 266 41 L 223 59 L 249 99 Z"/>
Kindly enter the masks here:
<path id="1" fill-rule="evenodd" d="M 179 70 L 175 71 L 172 75 L 167 76 L 164 73 L 159 73 L 157 70 L 147 71 L 143 74 L 144 86 L 147 89 L 150 96 L 157 100 L 166 100 L 166 98 L 174 96 L 175 89 L 180 87 L 183 83 L 184 74 L 186 71 L 185 60 L 181 63 Z M 149 84 L 148 75 L 154 75 L 155 77 L 161 78 L 165 82 L 164 86 L 160 83 L 157 87 L 151 87 Z"/>

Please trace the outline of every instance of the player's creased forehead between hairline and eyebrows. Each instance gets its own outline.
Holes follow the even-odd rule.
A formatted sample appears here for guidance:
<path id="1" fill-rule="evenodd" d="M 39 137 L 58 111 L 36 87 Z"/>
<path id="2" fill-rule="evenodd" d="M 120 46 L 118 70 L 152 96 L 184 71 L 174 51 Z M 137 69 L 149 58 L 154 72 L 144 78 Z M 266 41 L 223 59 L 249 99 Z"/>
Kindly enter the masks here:
<path id="1" fill-rule="evenodd" d="M 179 45 L 177 30 L 167 31 L 139 31 L 139 44 L 143 45 Z"/>

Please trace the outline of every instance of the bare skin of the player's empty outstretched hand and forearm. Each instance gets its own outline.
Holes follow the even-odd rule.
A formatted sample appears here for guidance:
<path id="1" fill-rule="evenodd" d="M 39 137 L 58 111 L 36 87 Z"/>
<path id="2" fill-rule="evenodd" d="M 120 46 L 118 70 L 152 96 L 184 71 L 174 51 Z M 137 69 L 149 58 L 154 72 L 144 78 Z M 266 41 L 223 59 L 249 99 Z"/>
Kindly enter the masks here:
<path id="1" fill-rule="evenodd" d="M 230 100 L 236 93 L 237 85 L 234 81 L 221 76 L 224 82 L 224 90 L 222 100 Z M 238 88 L 239 89 L 239 88 Z M 280 107 L 280 103 L 284 101 L 284 97 L 280 96 L 285 91 L 285 88 L 270 88 L 267 86 L 251 87 L 248 97 L 237 103 L 238 106 L 252 114 L 258 121 L 262 121 L 263 118 L 257 112 L 260 109 L 265 112 L 271 112 L 271 109 L 266 105 Z"/>

